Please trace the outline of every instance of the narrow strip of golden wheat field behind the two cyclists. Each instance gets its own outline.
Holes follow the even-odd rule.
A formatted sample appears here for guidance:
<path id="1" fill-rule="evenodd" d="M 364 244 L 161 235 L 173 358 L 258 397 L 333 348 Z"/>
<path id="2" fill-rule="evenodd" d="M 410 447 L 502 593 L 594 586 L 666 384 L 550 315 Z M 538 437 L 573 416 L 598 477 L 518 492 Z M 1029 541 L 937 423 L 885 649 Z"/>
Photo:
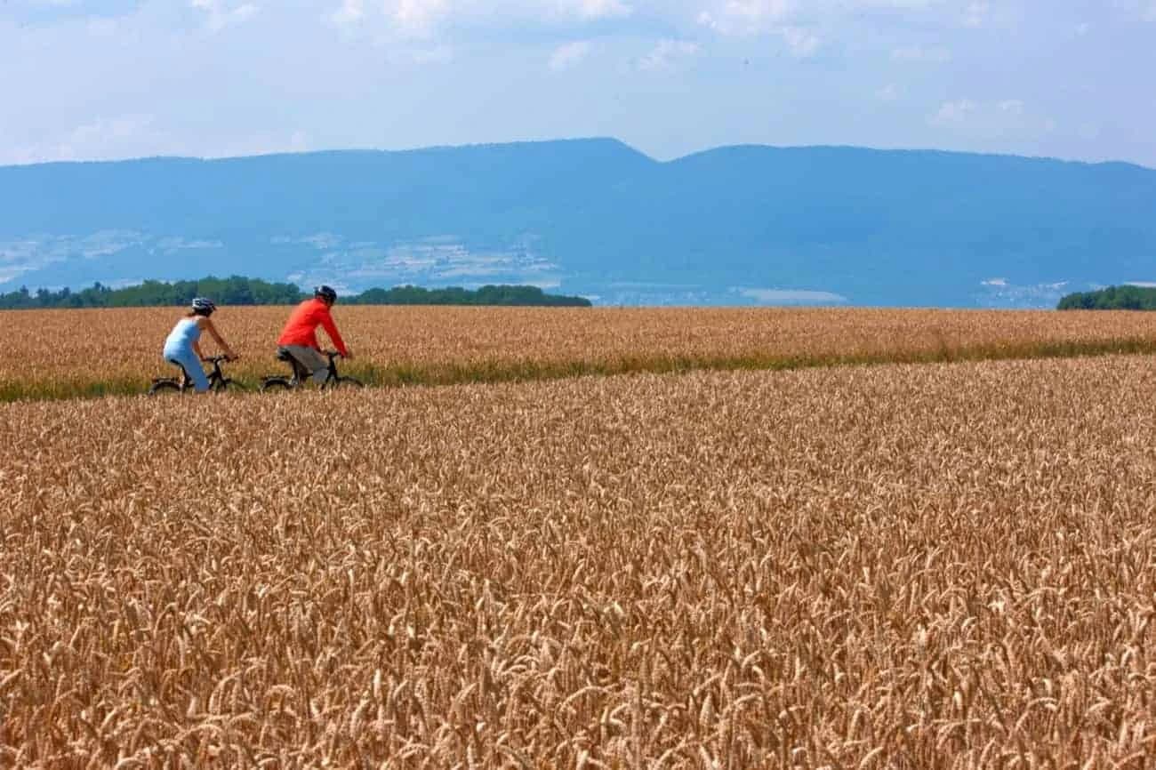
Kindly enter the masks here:
<path id="1" fill-rule="evenodd" d="M 140 393 L 175 372 L 161 347 L 179 314 L 0 312 L 0 400 Z M 1156 351 L 1156 319 L 1134 312 L 339 304 L 334 314 L 358 354 L 350 373 L 378 385 Z M 254 385 L 288 371 L 274 360 L 287 316 L 287 308 L 214 316 L 243 356 L 231 375 Z"/>

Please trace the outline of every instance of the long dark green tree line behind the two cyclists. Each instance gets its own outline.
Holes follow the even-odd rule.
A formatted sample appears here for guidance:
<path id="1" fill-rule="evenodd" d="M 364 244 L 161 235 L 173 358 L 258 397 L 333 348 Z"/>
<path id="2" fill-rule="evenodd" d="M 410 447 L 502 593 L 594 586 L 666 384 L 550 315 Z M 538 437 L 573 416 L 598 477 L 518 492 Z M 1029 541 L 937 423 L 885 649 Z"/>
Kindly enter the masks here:
<path id="1" fill-rule="evenodd" d="M 259 279 L 232 275 L 208 276 L 199 281 L 144 281 L 138 286 L 112 289 L 96 283 L 81 291 L 20 289 L 0 294 L 0 310 L 49 308 L 158 308 L 187 305 L 193 297 L 209 297 L 221 305 L 289 305 L 306 294 L 292 283 L 269 283 Z M 518 305 L 544 308 L 588 308 L 590 299 L 543 293 L 535 286 L 483 286 L 480 289 L 423 289 L 401 286 L 392 289 L 369 289 L 341 297 L 350 305 Z"/>

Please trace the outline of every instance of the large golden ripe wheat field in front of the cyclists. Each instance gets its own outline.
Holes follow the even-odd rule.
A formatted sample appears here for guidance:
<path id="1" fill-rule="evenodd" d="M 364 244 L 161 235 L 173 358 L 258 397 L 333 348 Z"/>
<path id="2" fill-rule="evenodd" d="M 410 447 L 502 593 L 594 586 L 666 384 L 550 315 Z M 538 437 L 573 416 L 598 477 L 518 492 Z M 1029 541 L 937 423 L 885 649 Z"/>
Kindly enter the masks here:
<path id="1" fill-rule="evenodd" d="M 1149 768 L 1154 387 L 6 405 L 0 767 Z"/>

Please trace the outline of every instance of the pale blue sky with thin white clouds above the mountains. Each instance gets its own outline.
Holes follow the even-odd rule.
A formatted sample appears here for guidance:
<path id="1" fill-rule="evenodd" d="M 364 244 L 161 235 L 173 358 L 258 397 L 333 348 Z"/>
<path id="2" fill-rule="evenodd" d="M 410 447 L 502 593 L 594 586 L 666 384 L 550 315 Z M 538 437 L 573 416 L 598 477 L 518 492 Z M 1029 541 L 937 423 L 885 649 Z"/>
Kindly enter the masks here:
<path id="1" fill-rule="evenodd" d="M 0 164 L 616 136 L 1156 168 L 1156 0 L 0 0 Z"/>

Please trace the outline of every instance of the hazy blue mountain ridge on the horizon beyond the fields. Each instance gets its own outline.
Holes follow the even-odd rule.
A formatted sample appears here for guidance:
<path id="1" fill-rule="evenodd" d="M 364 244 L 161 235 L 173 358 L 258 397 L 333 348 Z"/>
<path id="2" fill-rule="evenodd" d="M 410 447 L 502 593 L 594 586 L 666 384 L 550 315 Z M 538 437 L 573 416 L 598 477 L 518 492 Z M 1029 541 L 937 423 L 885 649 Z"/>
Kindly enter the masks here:
<path id="1" fill-rule="evenodd" d="M 208 273 L 599 304 L 1054 306 L 1156 281 L 1156 170 L 612 139 L 0 168 L 0 291 Z"/>

